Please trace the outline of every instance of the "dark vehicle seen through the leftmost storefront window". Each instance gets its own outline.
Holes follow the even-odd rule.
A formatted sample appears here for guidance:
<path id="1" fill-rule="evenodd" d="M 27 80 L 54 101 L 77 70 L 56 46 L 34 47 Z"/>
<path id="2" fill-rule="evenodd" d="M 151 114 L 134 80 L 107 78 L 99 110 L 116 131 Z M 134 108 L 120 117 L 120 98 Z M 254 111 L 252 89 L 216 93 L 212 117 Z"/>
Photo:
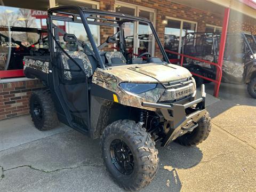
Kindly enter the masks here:
<path id="1" fill-rule="evenodd" d="M 49 55 L 47 30 L 0 26 L 0 70 L 23 69 L 23 57 Z"/>

